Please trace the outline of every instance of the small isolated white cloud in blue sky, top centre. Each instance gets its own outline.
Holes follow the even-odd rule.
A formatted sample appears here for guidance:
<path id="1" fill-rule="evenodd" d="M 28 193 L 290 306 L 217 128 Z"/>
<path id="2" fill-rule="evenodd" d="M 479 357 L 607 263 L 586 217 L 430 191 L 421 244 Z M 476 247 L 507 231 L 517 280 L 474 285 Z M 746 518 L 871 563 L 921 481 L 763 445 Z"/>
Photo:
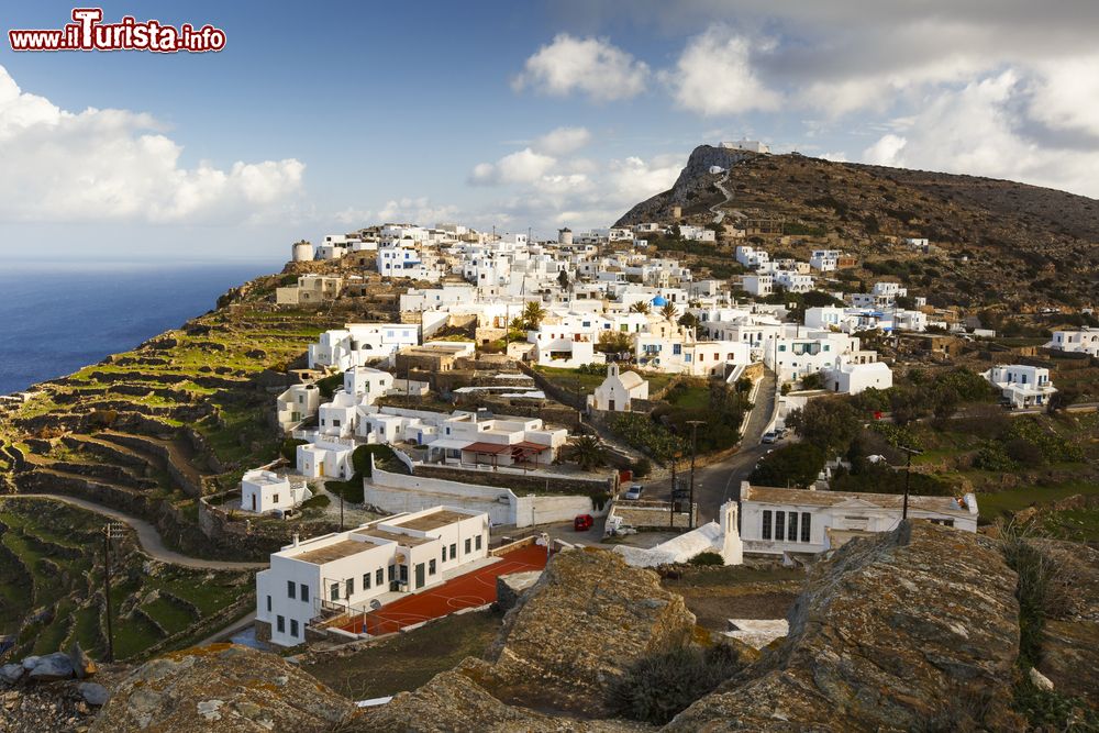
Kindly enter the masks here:
<path id="1" fill-rule="evenodd" d="M 562 33 L 526 59 L 512 88 L 556 96 L 580 91 L 596 101 L 629 99 L 645 90 L 648 66 L 604 38 Z"/>

